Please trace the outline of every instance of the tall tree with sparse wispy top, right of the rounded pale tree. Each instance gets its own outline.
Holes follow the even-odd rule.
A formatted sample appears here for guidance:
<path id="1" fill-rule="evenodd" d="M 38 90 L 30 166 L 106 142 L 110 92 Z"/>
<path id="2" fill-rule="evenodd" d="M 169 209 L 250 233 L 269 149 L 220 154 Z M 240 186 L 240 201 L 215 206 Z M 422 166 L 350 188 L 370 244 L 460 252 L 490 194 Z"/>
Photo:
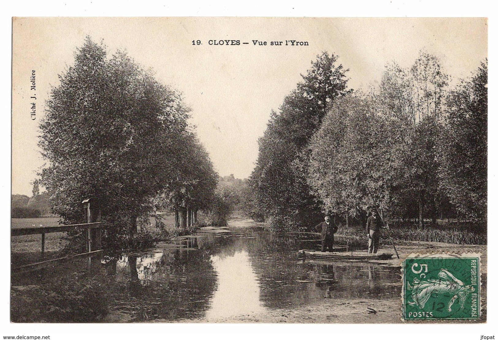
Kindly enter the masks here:
<path id="1" fill-rule="evenodd" d="M 396 145 L 385 157 L 399 160 L 394 185 L 399 197 L 418 203 L 419 226 L 426 210 L 437 211 L 438 178 L 436 143 L 444 118 L 448 76 L 437 57 L 421 52 L 413 66 L 386 67 L 378 99 L 382 114 L 391 122 Z"/>

